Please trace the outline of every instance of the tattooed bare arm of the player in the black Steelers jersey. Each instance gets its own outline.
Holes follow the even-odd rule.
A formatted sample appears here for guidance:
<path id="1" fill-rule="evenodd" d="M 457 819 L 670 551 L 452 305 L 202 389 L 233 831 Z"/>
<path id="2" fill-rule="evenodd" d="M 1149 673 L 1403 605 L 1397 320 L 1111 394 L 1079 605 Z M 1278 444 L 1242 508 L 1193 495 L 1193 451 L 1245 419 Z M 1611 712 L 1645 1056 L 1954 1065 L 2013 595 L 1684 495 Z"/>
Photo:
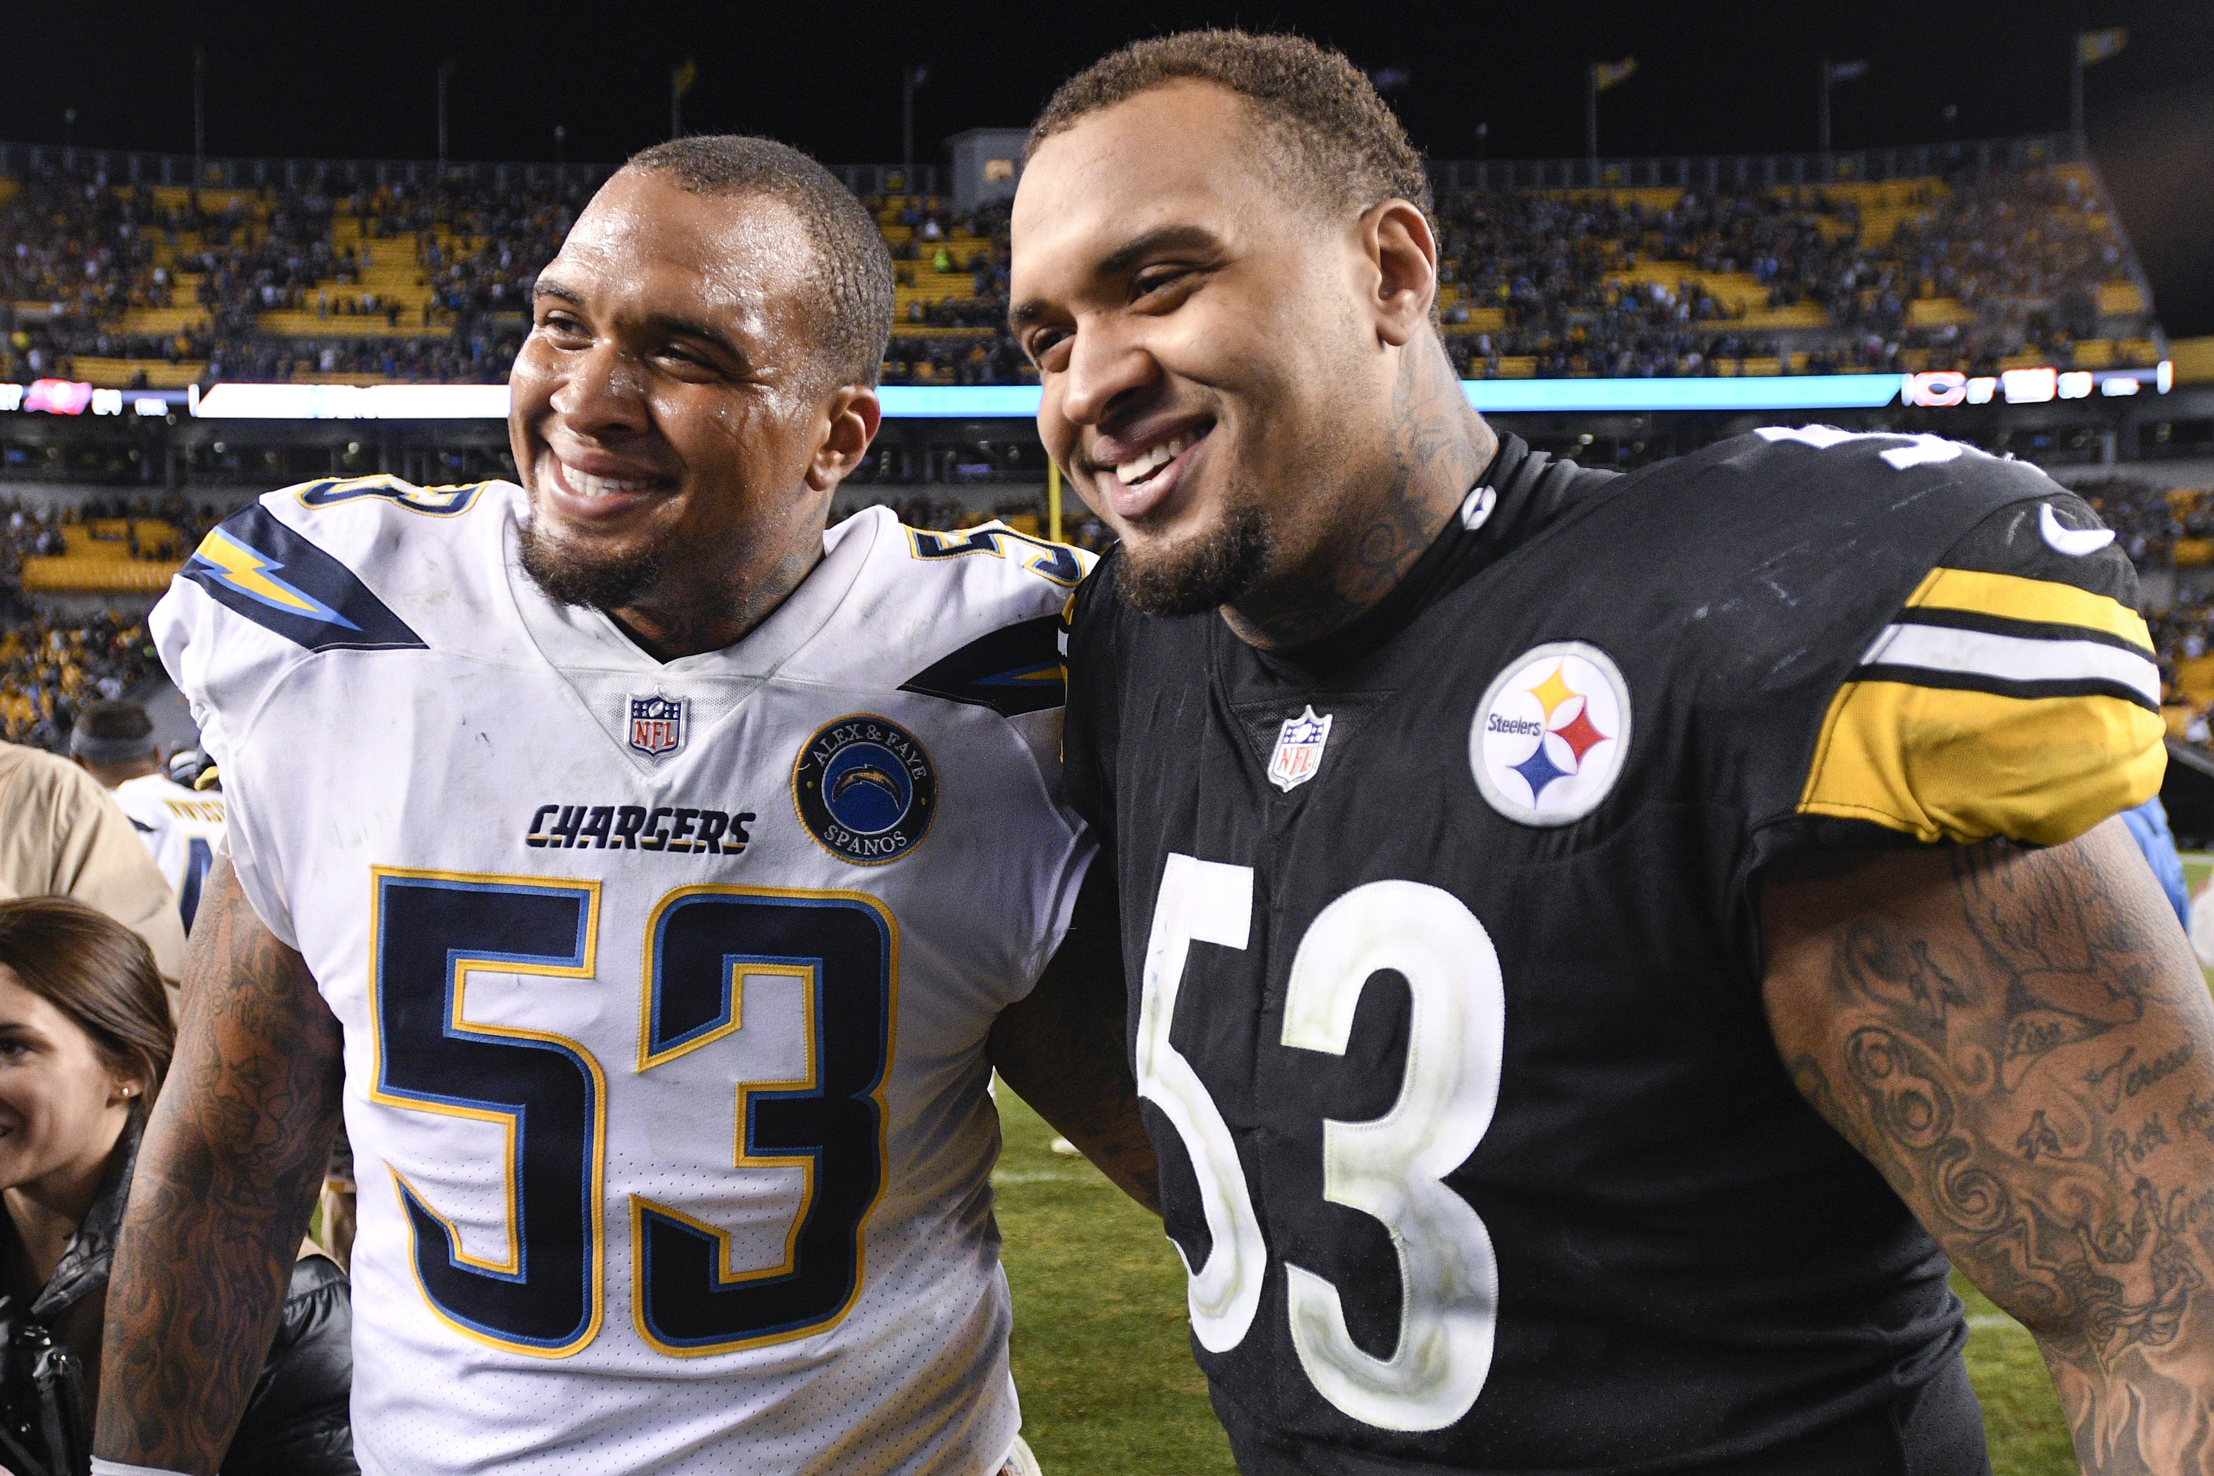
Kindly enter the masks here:
<path id="1" fill-rule="evenodd" d="M 1765 880 L 1800 1093 L 2037 1336 L 2086 1476 L 2214 1472 L 2214 1004 L 2119 820 Z"/>

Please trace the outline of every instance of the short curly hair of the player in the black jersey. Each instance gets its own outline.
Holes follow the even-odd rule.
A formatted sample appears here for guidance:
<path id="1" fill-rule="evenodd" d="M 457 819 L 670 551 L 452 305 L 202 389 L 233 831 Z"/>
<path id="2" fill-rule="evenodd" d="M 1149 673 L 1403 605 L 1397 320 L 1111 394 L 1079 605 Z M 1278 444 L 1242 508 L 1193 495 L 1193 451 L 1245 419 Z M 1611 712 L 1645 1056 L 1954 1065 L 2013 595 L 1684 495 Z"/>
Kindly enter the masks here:
<path id="1" fill-rule="evenodd" d="M 1180 80 L 1244 100 L 1255 126 L 1284 146 L 1269 162 L 1297 202 L 1335 215 L 1408 199 L 1430 215 L 1430 175 L 1399 117 L 1359 66 L 1304 35 L 1180 31 L 1131 42 L 1054 91 L 1023 157 L 1089 113 Z"/>

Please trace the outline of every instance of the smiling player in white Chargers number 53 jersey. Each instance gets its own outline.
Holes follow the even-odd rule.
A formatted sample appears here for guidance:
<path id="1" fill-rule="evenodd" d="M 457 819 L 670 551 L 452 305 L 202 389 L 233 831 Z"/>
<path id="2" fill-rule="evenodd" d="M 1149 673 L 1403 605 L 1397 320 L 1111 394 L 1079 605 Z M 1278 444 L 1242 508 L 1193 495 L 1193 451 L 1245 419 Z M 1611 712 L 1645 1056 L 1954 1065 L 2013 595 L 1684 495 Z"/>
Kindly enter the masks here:
<path id="1" fill-rule="evenodd" d="M 662 144 L 536 281 L 520 485 L 290 488 L 186 565 L 153 625 L 230 860 L 95 1469 L 221 1463 L 341 1099 L 370 1476 L 1016 1452 L 992 1066 L 1134 1192 L 1153 1166 L 1131 1095 L 1092 1108 L 1127 1068 L 1058 793 L 1083 556 L 824 532 L 890 310 L 813 160 Z M 1049 966 L 1065 935 L 1107 966 Z"/>

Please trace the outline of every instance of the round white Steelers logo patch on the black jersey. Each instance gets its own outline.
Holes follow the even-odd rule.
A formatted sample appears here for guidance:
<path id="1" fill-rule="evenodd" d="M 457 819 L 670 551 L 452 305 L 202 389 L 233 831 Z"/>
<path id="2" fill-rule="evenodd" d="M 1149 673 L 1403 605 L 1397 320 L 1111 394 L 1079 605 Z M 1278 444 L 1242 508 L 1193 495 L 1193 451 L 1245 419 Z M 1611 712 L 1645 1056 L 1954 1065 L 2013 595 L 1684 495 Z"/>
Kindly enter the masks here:
<path id="1" fill-rule="evenodd" d="M 1477 789 L 1508 820 L 1592 813 L 1630 754 L 1630 687 L 1596 645 L 1554 640 L 1492 678 L 1468 729 Z"/>

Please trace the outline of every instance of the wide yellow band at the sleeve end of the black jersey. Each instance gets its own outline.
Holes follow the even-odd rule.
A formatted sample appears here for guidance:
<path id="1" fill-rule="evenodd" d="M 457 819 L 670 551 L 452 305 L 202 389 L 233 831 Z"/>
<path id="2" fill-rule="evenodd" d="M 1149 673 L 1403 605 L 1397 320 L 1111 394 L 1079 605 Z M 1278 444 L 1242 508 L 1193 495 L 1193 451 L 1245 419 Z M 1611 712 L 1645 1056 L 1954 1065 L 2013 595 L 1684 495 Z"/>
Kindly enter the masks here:
<path id="1" fill-rule="evenodd" d="M 2008 583 L 2068 590 L 2028 578 Z M 2156 714 L 2114 696 L 2010 698 L 1844 683 L 1822 722 L 1798 809 L 1871 820 L 1922 842 L 2010 836 L 2061 844 L 2159 793 L 2168 767 L 2163 736 Z"/>

